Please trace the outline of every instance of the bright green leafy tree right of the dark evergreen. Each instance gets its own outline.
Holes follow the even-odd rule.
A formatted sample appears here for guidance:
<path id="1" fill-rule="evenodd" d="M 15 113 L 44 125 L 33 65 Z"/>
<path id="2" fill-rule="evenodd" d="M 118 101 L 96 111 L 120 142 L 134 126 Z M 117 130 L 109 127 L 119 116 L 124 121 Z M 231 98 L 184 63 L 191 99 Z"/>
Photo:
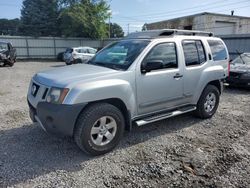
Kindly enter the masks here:
<path id="1" fill-rule="evenodd" d="M 60 28 L 63 36 L 100 39 L 107 37 L 105 21 L 109 6 L 104 0 L 70 1 L 60 13 Z"/>

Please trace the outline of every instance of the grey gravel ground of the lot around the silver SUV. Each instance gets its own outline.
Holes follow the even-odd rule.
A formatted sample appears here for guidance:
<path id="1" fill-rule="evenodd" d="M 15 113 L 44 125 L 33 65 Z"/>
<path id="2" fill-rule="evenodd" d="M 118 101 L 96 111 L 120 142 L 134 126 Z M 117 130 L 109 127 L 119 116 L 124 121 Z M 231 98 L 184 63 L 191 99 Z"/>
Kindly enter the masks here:
<path id="1" fill-rule="evenodd" d="M 187 114 L 135 128 L 93 158 L 28 117 L 31 76 L 58 66 L 0 67 L 0 187 L 250 187 L 250 91 L 225 89 L 212 119 Z"/>

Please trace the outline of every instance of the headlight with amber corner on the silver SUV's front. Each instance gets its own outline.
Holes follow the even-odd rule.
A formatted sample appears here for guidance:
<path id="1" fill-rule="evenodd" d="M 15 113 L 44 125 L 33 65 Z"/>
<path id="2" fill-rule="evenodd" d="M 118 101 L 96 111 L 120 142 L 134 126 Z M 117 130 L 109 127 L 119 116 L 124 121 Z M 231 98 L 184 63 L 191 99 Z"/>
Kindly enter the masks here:
<path id="1" fill-rule="evenodd" d="M 68 92 L 68 88 L 51 88 L 46 100 L 49 103 L 62 104 Z"/>

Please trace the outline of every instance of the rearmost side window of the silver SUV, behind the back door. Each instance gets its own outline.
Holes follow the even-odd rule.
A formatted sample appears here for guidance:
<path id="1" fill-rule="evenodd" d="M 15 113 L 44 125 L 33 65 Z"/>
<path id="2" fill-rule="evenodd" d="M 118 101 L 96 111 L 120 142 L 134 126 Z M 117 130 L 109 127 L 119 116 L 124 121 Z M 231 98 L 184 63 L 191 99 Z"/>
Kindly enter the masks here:
<path id="1" fill-rule="evenodd" d="M 227 51 L 224 44 L 219 40 L 208 40 L 211 48 L 214 61 L 221 61 L 227 59 Z"/>

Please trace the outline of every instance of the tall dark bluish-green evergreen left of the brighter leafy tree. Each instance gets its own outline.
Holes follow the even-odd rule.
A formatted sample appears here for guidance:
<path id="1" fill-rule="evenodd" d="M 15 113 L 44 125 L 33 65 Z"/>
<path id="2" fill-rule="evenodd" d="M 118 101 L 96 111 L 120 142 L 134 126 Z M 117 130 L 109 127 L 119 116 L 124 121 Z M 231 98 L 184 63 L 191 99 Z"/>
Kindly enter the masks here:
<path id="1" fill-rule="evenodd" d="M 57 18 L 57 0 L 24 0 L 19 31 L 22 35 L 56 36 Z"/>

